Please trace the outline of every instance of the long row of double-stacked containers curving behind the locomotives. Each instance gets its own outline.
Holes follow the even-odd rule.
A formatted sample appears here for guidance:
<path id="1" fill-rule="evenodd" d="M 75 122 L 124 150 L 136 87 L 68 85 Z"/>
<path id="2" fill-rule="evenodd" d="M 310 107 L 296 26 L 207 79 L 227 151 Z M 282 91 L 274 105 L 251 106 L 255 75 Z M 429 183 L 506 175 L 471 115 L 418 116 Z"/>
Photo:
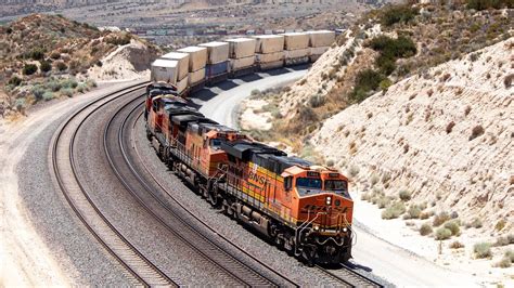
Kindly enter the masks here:
<path id="1" fill-rule="evenodd" d="M 188 96 L 205 86 L 258 70 L 317 61 L 334 42 L 329 30 L 259 35 L 187 47 L 151 65 L 153 82 L 165 82 Z"/>

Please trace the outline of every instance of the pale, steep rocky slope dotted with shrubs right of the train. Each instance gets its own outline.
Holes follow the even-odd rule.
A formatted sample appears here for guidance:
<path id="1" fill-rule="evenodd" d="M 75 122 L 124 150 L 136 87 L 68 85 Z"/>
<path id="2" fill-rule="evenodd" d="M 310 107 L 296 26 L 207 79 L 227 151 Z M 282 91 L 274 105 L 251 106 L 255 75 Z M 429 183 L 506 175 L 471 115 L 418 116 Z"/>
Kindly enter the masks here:
<path id="1" fill-rule="evenodd" d="M 312 143 L 359 189 L 514 223 L 514 38 L 407 78 L 327 119 Z M 487 224 L 486 224 L 487 223 Z"/>

